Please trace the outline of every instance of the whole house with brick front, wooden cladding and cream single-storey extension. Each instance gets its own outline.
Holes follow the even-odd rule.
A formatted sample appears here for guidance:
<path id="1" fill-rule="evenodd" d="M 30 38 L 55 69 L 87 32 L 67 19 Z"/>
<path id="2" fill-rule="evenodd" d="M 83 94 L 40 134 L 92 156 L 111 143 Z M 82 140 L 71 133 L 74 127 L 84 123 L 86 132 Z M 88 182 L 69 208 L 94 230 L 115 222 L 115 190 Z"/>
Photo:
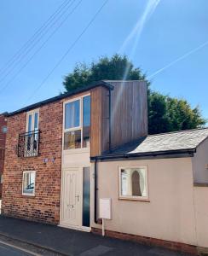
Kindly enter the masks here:
<path id="1" fill-rule="evenodd" d="M 102 200 L 108 236 L 208 247 L 208 129 L 147 136 L 145 82 L 96 82 L 7 120 L 3 214 L 97 233 Z"/>

